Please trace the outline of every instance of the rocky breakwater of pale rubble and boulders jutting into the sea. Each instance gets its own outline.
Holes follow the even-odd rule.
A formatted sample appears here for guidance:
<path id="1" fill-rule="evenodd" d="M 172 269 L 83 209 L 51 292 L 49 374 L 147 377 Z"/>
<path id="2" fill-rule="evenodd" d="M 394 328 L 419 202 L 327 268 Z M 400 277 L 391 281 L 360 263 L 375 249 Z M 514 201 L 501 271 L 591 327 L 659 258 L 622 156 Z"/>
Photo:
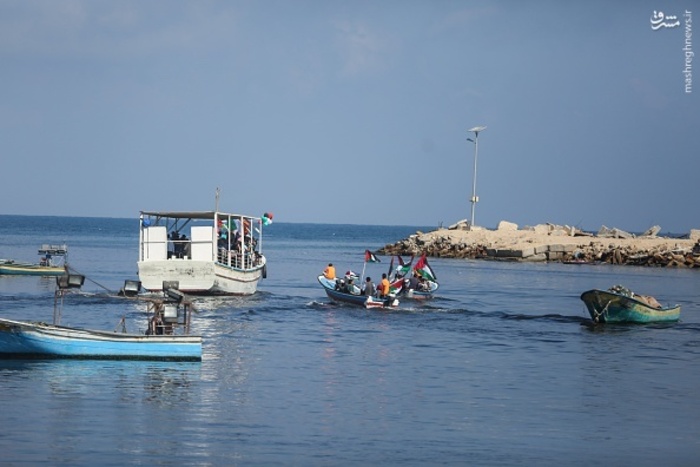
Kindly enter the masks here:
<path id="1" fill-rule="evenodd" d="M 700 268 L 700 230 L 687 238 L 660 237 L 654 226 L 643 235 L 605 226 L 597 234 L 574 227 L 540 224 L 519 228 L 502 221 L 496 230 L 459 222 L 415 234 L 381 248 L 385 255 L 427 254 L 439 258 L 500 261 L 557 261 Z"/>

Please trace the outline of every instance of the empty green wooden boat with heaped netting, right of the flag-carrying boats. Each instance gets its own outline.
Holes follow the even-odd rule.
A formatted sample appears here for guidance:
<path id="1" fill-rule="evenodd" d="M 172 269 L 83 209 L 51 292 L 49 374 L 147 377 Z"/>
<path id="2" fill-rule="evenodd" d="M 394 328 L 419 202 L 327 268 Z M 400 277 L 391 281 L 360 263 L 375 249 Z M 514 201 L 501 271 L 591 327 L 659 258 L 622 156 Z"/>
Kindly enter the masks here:
<path id="1" fill-rule="evenodd" d="M 666 323 L 678 321 L 680 305 L 663 307 L 654 297 L 638 295 L 621 285 L 581 294 L 595 323 Z"/>

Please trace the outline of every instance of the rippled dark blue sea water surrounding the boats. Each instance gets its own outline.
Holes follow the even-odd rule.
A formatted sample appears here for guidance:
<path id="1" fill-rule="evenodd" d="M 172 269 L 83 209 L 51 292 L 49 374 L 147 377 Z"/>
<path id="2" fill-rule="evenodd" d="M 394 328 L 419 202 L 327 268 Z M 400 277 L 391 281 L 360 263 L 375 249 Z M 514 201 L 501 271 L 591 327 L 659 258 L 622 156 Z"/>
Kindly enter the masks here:
<path id="1" fill-rule="evenodd" d="M 0 360 L 3 465 L 697 465 L 700 271 L 430 259 L 435 299 L 333 304 L 316 277 L 425 226 L 275 223 L 251 297 L 197 298 L 201 363 Z M 66 325 L 145 330 L 138 219 L 0 216 L 0 257 L 67 243 Z M 366 265 L 380 276 L 389 258 Z M 682 306 L 589 326 L 622 284 Z M 50 322 L 55 279 L 0 276 L 0 316 Z"/>

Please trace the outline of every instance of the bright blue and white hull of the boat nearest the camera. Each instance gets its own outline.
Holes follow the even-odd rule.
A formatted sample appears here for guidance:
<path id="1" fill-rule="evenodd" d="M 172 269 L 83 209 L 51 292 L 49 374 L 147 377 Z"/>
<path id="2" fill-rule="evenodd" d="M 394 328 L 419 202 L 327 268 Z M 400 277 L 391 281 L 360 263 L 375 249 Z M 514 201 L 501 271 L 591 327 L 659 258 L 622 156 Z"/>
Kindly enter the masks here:
<path id="1" fill-rule="evenodd" d="M 92 331 L 0 318 L 0 358 L 201 360 L 202 338 Z"/>

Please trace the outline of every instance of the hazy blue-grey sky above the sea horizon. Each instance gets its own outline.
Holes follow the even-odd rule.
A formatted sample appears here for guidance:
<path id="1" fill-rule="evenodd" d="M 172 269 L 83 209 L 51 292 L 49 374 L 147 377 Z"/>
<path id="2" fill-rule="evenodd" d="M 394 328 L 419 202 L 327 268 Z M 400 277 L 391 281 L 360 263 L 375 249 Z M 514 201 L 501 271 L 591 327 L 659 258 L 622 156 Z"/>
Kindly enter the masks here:
<path id="1" fill-rule="evenodd" d="M 695 48 L 697 0 L 0 0 L 0 214 L 449 226 L 476 157 L 476 225 L 687 233 Z"/>

